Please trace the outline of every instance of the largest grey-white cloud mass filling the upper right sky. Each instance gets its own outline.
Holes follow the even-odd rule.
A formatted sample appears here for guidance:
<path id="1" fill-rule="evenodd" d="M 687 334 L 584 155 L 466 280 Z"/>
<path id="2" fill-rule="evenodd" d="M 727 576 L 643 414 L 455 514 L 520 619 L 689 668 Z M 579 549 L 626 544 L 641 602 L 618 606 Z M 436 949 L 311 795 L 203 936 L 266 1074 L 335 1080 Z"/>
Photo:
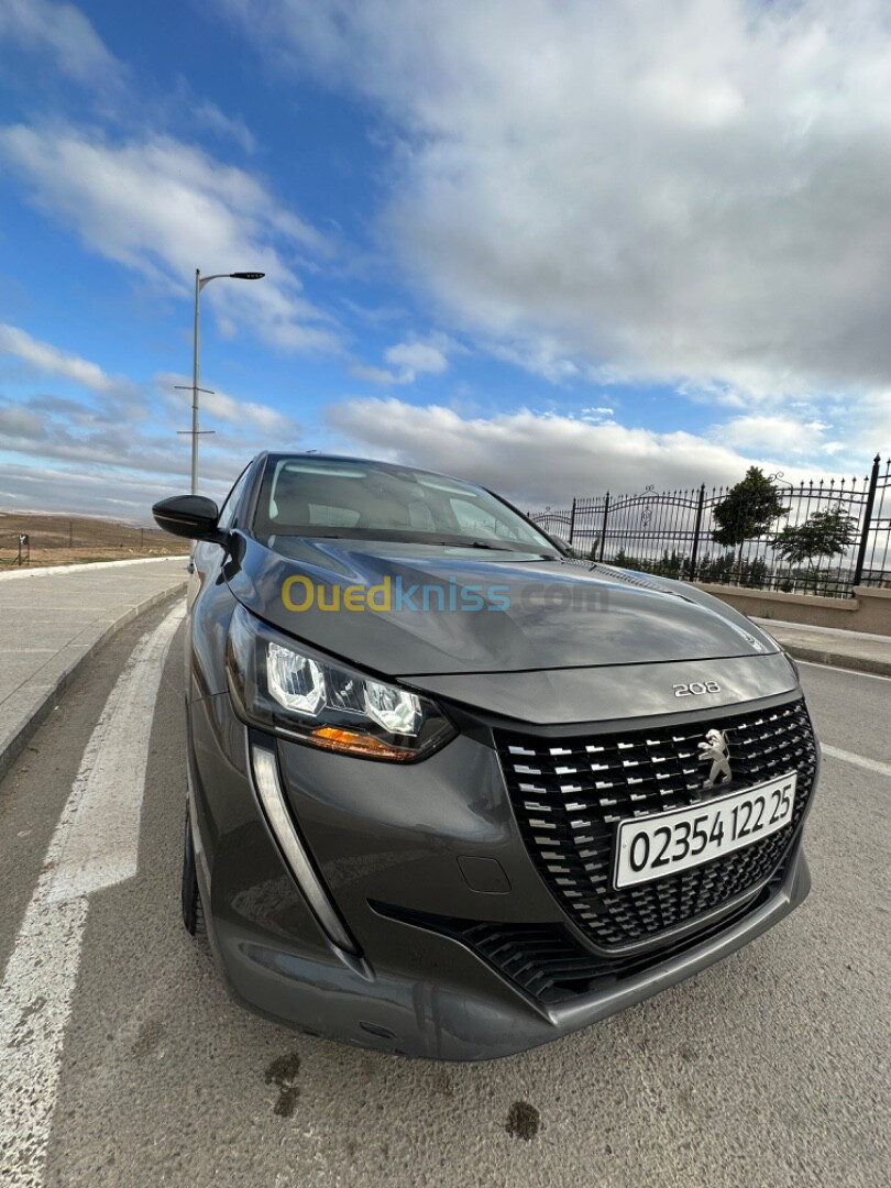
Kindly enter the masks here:
<path id="1" fill-rule="evenodd" d="M 406 266 L 530 369 L 546 343 L 742 393 L 891 380 L 879 0 L 226 4 L 386 113 Z"/>

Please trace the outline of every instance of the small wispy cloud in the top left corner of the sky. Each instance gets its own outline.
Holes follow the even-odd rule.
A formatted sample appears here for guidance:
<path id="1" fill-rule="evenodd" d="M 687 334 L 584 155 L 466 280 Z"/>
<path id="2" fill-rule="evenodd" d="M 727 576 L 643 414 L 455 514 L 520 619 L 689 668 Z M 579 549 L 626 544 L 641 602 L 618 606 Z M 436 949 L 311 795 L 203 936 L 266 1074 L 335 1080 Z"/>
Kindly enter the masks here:
<path id="1" fill-rule="evenodd" d="M 114 83 L 124 68 L 102 43 L 83 13 L 70 4 L 51 0 L 4 0 L 0 5 L 0 40 L 26 52 L 50 56 L 76 82 Z"/>

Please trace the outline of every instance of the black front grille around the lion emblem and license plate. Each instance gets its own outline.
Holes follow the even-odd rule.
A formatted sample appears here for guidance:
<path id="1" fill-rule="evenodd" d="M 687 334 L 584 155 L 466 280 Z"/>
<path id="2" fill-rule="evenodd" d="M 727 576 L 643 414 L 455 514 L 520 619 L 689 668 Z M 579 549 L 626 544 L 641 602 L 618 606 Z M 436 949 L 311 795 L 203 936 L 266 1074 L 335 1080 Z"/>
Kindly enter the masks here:
<path id="1" fill-rule="evenodd" d="M 619 821 L 702 802 L 706 731 L 727 735 L 726 795 L 797 770 L 791 822 L 722 858 L 615 890 Z M 807 808 L 816 742 L 803 701 L 745 714 L 621 733 L 544 738 L 495 732 L 517 821 L 538 871 L 570 918 L 599 947 L 642 943 L 754 890 L 783 858 Z"/>

